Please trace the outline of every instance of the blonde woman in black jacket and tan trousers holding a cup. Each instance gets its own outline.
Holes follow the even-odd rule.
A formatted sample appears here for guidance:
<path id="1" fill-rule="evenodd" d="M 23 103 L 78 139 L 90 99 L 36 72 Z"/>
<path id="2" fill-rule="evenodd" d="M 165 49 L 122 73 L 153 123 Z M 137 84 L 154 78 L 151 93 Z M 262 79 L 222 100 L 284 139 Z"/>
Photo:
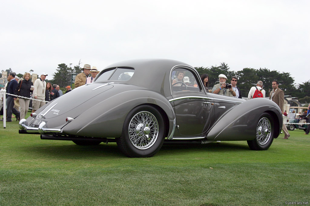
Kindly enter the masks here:
<path id="1" fill-rule="evenodd" d="M 30 73 L 26 72 L 23 75 L 23 78 L 24 78 L 24 80 L 20 80 L 20 82 L 18 82 L 18 85 L 16 86 L 15 91 L 14 91 L 14 95 L 19 95 L 22 97 L 30 98 L 30 93 L 33 90 L 33 88 L 31 88 L 33 83 L 30 80 L 30 78 L 31 78 Z M 14 98 L 14 100 L 15 99 L 16 98 Z M 25 119 L 25 116 L 27 115 L 28 108 L 29 108 L 29 102 L 30 102 L 30 99 L 19 98 L 20 119 Z"/>

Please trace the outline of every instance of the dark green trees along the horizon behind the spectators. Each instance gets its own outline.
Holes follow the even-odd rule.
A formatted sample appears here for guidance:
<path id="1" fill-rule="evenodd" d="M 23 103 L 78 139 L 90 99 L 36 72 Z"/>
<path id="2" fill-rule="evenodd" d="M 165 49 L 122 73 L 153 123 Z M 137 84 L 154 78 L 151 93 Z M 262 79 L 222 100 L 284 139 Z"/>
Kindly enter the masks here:
<path id="1" fill-rule="evenodd" d="M 52 84 L 58 84 L 62 88 L 71 85 L 71 74 L 79 74 L 82 71 L 82 68 L 79 65 L 76 65 L 72 68 L 71 64 L 69 66 L 64 63 L 59 64 L 56 72 L 53 74 L 54 78 L 46 81 L 51 82 Z M 250 88 L 252 86 L 256 86 L 256 83 L 258 81 L 263 82 L 263 88 L 266 91 L 267 96 L 269 92 L 272 91 L 272 81 L 277 80 L 279 82 L 280 89 L 284 91 L 285 95 L 298 97 L 299 102 L 301 103 L 310 102 L 310 80 L 303 82 L 302 84 L 296 85 L 294 83 L 294 79 L 290 76 L 290 73 L 281 73 L 276 70 L 270 70 L 267 68 L 243 68 L 241 71 L 235 72 L 230 70 L 230 68 L 225 62 L 220 63 L 219 66 L 215 65 L 210 67 L 195 67 L 195 69 L 198 71 L 199 75 L 209 75 L 209 87 L 213 87 L 215 84 L 219 83 L 219 74 L 226 75 L 226 77 L 228 78 L 227 83 L 230 83 L 230 79 L 232 76 L 237 76 L 237 86 L 241 90 L 242 97 L 247 97 Z M 12 70 L 11 68 L 9 68 L 6 71 L 9 73 Z M 33 72 L 33 70 L 30 70 L 30 72 Z M 23 74 L 17 75 L 19 77 L 23 76 Z"/>

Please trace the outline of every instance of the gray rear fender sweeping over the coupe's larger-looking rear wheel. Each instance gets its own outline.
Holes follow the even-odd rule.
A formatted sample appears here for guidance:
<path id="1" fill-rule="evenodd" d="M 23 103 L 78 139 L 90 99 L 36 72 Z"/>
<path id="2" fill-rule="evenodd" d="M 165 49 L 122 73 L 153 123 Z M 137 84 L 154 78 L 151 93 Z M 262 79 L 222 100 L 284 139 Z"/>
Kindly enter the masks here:
<path id="1" fill-rule="evenodd" d="M 173 130 L 173 120 L 175 119 L 173 108 L 163 95 L 146 89 L 124 91 L 92 105 L 67 124 L 63 131 L 79 136 L 120 137 L 127 114 L 141 104 L 156 105 L 165 112 L 169 122 L 167 125 L 169 126 L 169 136 Z"/>

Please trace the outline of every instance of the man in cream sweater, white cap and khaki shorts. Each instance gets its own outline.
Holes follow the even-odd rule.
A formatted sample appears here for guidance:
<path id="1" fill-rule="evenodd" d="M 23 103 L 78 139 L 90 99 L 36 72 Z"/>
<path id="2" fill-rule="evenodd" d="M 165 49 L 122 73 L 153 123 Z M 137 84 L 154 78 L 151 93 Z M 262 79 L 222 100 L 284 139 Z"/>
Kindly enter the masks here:
<path id="1" fill-rule="evenodd" d="M 44 81 L 47 74 L 43 72 L 41 77 L 34 81 L 33 100 L 32 100 L 32 112 L 37 111 L 40 107 L 45 105 L 45 102 L 37 101 L 39 99 L 45 101 L 46 82 Z"/>

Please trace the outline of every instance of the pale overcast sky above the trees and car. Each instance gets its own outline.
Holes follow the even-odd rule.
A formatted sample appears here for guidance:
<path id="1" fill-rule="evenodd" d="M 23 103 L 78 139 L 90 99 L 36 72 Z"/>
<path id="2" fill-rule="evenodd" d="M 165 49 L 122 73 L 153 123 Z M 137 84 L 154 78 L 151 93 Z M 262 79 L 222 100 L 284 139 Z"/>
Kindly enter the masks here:
<path id="1" fill-rule="evenodd" d="M 2 1 L 0 71 L 166 58 L 310 80 L 310 1 Z M 308 59 L 308 60 L 307 60 Z M 215 77 L 216 78 L 216 77 Z"/>

